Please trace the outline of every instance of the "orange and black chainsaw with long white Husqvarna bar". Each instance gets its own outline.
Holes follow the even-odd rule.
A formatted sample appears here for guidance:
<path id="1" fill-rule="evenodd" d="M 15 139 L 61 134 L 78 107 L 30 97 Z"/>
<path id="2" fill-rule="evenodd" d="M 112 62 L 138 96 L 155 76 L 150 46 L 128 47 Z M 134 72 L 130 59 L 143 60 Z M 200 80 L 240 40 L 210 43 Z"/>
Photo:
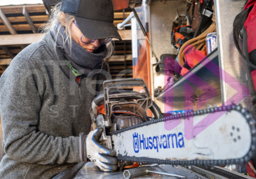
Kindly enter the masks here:
<path id="1" fill-rule="evenodd" d="M 149 111 L 154 117 L 147 115 Z M 116 151 L 121 170 L 139 163 L 242 164 L 256 150 L 255 120 L 241 105 L 162 114 L 143 79 L 105 81 L 104 92 L 93 100 L 90 114 L 93 129 L 104 129 L 100 141 Z"/>

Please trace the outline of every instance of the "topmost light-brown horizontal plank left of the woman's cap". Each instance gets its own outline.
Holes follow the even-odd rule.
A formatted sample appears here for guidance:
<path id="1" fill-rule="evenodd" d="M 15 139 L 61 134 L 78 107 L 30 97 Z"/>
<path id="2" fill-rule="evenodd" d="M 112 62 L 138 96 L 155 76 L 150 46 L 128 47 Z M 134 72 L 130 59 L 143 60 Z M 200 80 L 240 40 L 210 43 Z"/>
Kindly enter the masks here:
<path id="1" fill-rule="evenodd" d="M 28 13 L 42 13 L 46 12 L 46 9 L 44 7 L 44 4 L 36 4 L 36 5 L 25 5 Z M 5 14 L 9 13 L 22 13 L 23 6 L 22 5 L 13 5 L 13 6 L 6 6 L 1 7 L 3 9 L 3 12 Z"/>

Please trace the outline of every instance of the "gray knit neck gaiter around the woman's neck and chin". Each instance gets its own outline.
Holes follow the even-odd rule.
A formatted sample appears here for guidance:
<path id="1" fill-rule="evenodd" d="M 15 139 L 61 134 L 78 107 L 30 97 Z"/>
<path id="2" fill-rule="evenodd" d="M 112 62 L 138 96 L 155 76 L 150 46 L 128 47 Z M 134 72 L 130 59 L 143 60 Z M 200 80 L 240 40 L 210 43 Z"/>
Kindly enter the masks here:
<path id="1" fill-rule="evenodd" d="M 55 40 L 57 36 L 57 45 L 64 48 L 64 56 L 66 60 L 69 61 L 76 70 L 79 70 L 82 74 L 88 75 L 92 70 L 95 70 L 99 65 L 102 65 L 103 59 L 107 54 L 106 45 L 101 45 L 95 52 L 88 52 L 72 39 L 70 50 L 70 45 L 67 41 L 65 45 L 63 45 L 62 36 L 66 39 L 65 28 L 62 26 L 59 31 L 62 36 L 60 34 L 57 35 L 58 26 L 59 24 L 51 30 L 51 34 Z"/>

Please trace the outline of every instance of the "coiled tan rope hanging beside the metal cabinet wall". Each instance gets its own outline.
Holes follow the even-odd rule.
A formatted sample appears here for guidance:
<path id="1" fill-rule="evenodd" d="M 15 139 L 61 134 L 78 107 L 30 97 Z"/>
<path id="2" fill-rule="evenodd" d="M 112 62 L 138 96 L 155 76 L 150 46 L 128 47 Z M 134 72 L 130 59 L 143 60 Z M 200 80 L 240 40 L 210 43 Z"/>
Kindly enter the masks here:
<path id="1" fill-rule="evenodd" d="M 204 31 L 202 34 L 195 37 L 194 39 L 190 39 L 190 40 L 186 41 L 181 46 L 179 54 L 178 54 L 178 61 L 179 61 L 179 64 L 181 66 L 183 66 L 185 64 L 184 55 L 185 55 L 185 52 L 191 48 L 191 46 L 193 46 L 197 50 L 201 50 L 206 44 L 205 39 L 206 39 L 207 34 L 212 33 L 212 32 L 216 32 L 216 20 L 215 20 L 214 5 L 212 6 L 212 9 L 213 9 L 213 13 L 212 13 L 212 24 L 211 24 L 211 26 L 209 26 L 208 29 L 206 31 Z"/>

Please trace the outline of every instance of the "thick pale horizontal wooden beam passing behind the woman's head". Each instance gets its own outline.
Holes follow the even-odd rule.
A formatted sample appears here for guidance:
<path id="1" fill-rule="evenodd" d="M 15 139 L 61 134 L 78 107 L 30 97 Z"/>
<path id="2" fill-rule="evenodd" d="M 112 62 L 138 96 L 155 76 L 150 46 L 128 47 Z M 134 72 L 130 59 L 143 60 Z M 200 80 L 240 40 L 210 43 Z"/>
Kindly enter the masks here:
<path id="1" fill-rule="evenodd" d="M 119 31 L 119 34 L 123 40 L 132 39 L 131 30 Z M 44 37 L 44 34 L 0 35 L 0 45 L 32 44 L 40 41 L 43 37 Z M 113 39 L 113 40 L 119 40 L 119 39 Z"/>

